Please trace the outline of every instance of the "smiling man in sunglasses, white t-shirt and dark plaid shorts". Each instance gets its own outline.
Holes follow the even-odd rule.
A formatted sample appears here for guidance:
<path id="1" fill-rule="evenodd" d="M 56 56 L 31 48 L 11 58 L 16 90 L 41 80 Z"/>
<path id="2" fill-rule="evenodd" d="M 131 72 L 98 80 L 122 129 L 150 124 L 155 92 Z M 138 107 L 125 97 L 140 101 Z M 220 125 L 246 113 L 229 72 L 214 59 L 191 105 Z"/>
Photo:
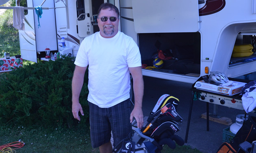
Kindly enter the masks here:
<path id="1" fill-rule="evenodd" d="M 126 138 L 132 130 L 133 117 L 139 128 L 143 125 L 143 77 L 139 48 L 131 37 L 118 31 L 119 10 L 104 3 L 98 10 L 100 32 L 86 37 L 76 56 L 72 80 L 72 113 L 80 121 L 79 95 L 89 65 L 89 110 L 92 147 L 101 153 L 112 153 L 111 130 L 114 145 Z M 133 78 L 135 106 L 130 112 L 130 73 Z"/>

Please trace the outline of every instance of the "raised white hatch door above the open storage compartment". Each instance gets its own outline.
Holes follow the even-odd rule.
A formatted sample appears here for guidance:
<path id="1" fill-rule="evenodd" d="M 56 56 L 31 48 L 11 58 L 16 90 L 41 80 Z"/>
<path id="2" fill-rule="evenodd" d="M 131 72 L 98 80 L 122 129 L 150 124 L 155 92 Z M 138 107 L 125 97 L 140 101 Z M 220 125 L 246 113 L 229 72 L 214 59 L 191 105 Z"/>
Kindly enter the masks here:
<path id="1" fill-rule="evenodd" d="M 197 0 L 132 0 L 137 33 L 197 32 Z"/>

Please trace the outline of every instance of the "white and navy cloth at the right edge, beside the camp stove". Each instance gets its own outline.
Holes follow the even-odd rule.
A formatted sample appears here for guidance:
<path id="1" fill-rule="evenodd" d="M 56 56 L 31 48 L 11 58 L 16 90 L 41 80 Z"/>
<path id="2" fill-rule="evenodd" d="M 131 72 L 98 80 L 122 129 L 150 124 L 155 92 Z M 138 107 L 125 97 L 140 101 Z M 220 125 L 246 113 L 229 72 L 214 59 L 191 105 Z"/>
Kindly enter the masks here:
<path id="1" fill-rule="evenodd" d="M 246 113 L 256 108 L 256 81 L 251 81 L 241 91 L 243 108 Z"/>

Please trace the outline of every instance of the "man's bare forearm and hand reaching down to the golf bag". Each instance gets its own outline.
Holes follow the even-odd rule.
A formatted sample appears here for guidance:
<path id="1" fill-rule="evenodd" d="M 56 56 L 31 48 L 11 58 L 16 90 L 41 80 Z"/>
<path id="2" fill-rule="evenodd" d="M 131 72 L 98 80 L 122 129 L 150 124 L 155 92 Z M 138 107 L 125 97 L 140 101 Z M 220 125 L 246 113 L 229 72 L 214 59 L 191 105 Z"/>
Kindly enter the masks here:
<path id="1" fill-rule="evenodd" d="M 135 96 L 135 105 L 130 115 L 130 122 L 132 123 L 133 117 L 137 121 L 137 126 L 141 129 L 143 127 L 143 112 L 142 112 L 142 98 L 144 91 L 143 76 L 141 66 L 129 68 L 133 79 L 133 91 Z"/>

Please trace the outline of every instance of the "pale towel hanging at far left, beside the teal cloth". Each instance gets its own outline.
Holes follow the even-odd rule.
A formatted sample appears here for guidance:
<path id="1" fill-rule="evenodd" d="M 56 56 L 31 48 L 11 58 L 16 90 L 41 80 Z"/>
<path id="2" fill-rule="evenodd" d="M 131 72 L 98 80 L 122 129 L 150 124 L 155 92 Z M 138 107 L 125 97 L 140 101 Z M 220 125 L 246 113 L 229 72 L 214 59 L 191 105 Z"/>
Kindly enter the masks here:
<path id="1" fill-rule="evenodd" d="M 25 30 L 24 7 L 13 7 L 13 27 L 19 30 Z"/>

